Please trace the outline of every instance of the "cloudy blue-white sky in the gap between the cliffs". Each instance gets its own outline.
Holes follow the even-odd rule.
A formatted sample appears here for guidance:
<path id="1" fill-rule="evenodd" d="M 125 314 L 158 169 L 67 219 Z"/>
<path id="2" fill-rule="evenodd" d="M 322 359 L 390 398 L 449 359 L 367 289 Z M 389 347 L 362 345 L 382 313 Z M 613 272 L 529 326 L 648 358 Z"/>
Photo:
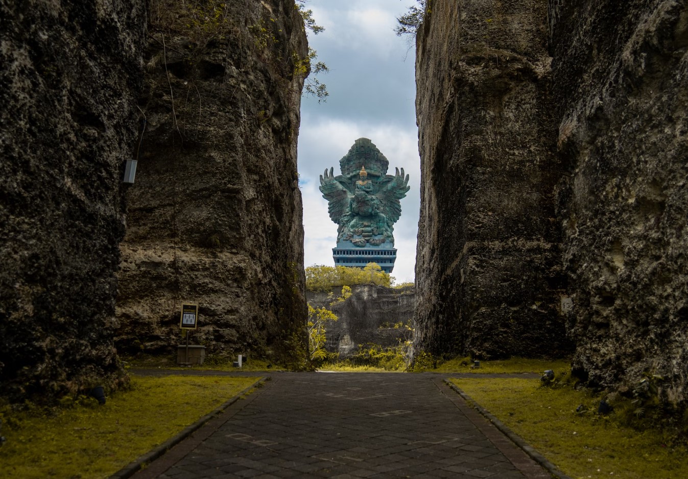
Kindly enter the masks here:
<path id="1" fill-rule="evenodd" d="M 394 225 L 397 260 L 391 276 L 413 281 L 420 208 L 420 159 L 416 128 L 414 49 L 394 34 L 396 17 L 415 0 L 310 0 L 306 8 L 325 31 L 309 32 L 318 59 L 330 67 L 320 76 L 326 102 L 303 98 L 299 134 L 299 174 L 303 194 L 305 265 L 333 266 L 337 225 L 327 214 L 318 187 L 323 170 L 334 167 L 358 138 L 372 140 L 389 160 L 388 174 L 410 175 L 401 218 Z"/>

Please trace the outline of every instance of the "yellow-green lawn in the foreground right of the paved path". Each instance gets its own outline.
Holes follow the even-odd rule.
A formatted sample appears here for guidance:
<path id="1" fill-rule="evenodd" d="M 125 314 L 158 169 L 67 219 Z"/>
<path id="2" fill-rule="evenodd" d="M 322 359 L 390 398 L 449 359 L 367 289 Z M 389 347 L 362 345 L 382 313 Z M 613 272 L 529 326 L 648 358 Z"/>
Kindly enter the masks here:
<path id="1" fill-rule="evenodd" d="M 679 479 L 688 454 L 660 430 L 640 432 L 596 411 L 601 397 L 537 379 L 452 379 L 483 408 L 573 478 Z"/>

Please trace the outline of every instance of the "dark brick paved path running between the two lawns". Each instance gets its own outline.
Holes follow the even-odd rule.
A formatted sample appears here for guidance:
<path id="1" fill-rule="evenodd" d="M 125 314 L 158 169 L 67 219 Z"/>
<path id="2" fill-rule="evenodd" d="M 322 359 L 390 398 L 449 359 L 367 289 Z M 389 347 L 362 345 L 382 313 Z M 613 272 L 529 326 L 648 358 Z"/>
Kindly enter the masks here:
<path id="1" fill-rule="evenodd" d="M 436 375 L 281 373 L 133 477 L 550 475 Z"/>

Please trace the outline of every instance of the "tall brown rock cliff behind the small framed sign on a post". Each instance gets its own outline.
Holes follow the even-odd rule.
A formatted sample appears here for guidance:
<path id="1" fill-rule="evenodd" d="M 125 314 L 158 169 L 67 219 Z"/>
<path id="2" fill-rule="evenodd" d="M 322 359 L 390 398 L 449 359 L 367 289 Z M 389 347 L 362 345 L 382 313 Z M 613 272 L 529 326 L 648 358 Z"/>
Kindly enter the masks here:
<path id="1" fill-rule="evenodd" d="M 211 353 L 287 346 L 306 315 L 301 16 L 292 0 L 157 0 L 150 27 L 118 347 L 175 347 L 182 302 L 200 304 L 191 342 Z"/>

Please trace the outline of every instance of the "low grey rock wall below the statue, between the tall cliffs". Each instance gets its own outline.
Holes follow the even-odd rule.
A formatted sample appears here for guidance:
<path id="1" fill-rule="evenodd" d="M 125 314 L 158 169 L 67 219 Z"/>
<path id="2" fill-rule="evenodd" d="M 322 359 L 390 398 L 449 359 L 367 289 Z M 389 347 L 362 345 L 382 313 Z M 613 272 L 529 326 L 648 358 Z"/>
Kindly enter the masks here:
<path id="1" fill-rule="evenodd" d="M 405 339 L 405 330 L 394 328 L 394 324 L 411 324 L 416 305 L 416 287 L 400 289 L 376 285 L 352 287 L 352 296 L 343 300 L 332 300 L 327 293 L 307 293 L 308 303 L 314 307 L 325 307 L 337 315 L 338 320 L 325 329 L 325 349 L 339 353 L 339 359 L 346 359 L 356 351 L 359 344 L 378 344 L 394 347 Z M 341 290 L 336 291 L 341 296 Z"/>

